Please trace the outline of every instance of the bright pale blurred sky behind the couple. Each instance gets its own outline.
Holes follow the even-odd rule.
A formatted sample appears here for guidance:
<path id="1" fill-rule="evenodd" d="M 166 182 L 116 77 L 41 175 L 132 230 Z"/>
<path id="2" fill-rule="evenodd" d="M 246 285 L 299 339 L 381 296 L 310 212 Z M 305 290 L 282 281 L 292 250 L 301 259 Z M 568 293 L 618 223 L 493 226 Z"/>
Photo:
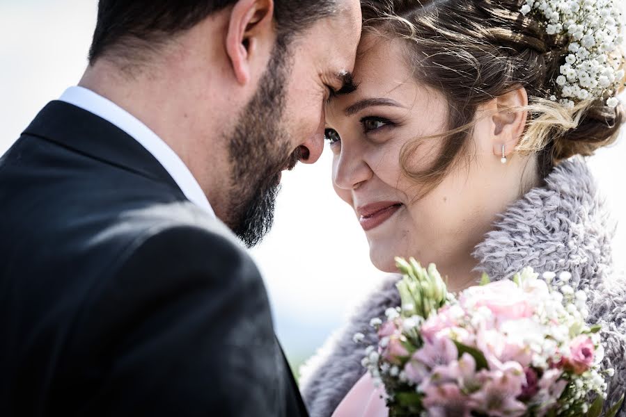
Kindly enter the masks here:
<path id="1" fill-rule="evenodd" d="M 0 0 L 0 154 L 42 106 L 79 81 L 96 10 L 96 0 Z M 621 139 L 589 163 L 615 217 L 626 222 L 626 138 Z M 626 226 L 620 224 L 615 257 L 622 266 L 625 250 Z M 370 264 L 352 209 L 332 190 L 329 149 L 315 165 L 283 174 L 276 224 L 252 254 L 265 277 L 277 333 L 294 363 L 340 327 L 382 277 Z"/>

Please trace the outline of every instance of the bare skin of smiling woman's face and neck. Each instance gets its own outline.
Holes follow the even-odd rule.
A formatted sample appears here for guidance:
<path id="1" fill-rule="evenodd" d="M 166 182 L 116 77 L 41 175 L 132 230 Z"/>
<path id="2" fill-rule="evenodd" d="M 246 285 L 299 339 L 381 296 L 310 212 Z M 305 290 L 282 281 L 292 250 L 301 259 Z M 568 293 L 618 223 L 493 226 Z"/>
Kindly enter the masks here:
<path id="1" fill-rule="evenodd" d="M 498 185 L 506 171 L 492 145 L 473 138 L 472 158 L 461 157 L 437 188 L 419 197 L 423 186 L 402 173 L 400 151 L 418 137 L 445 132 L 448 104 L 440 92 L 415 81 L 402 53 L 399 41 L 363 37 L 357 92 L 327 106 L 334 188 L 354 208 L 374 265 L 389 272 L 394 256 L 440 265 L 468 256 L 515 197 Z M 483 129 L 488 126 L 478 124 L 474 136 L 487 134 Z M 440 152 L 441 139 L 423 140 L 409 169 L 430 167 Z"/>

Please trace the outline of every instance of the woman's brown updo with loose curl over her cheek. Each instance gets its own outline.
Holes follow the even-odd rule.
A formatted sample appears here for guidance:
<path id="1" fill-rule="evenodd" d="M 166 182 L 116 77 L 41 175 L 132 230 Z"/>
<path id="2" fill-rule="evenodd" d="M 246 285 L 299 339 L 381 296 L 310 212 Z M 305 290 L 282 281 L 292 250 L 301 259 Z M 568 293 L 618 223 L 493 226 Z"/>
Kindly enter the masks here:
<path id="1" fill-rule="evenodd" d="M 574 155 L 588 156 L 618 136 L 624 108 L 603 99 L 573 109 L 550 101 L 567 40 L 547 35 L 519 11 L 522 0 L 362 0 L 364 31 L 405 40 L 407 64 L 416 79 L 448 101 L 448 131 L 441 153 L 428 170 L 408 168 L 419 143 L 401 153 L 408 177 L 437 186 L 468 145 L 478 106 L 524 87 L 529 121 L 517 146 L 535 152 L 545 178 L 554 165 Z"/>

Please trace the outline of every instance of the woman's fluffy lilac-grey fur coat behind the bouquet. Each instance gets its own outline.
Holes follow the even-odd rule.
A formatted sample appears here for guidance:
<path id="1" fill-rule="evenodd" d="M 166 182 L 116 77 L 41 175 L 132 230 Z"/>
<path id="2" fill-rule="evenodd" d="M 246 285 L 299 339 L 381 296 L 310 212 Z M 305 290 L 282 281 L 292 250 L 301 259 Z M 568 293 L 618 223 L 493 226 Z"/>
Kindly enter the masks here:
<path id="1" fill-rule="evenodd" d="M 545 186 L 531 190 L 508 208 L 474 254 L 478 270 L 492 279 L 510 278 L 525 266 L 536 272 L 572 272 L 574 289 L 588 295 L 588 320 L 602 325 L 604 366 L 616 371 L 609 382 L 607 403 L 626 391 L 626 281 L 611 268 L 613 231 L 588 167 L 573 158 L 556 167 Z M 376 343 L 368 322 L 384 318 L 385 309 L 400 305 L 398 279 L 397 275 L 384 279 L 347 325 L 303 366 L 302 391 L 311 417 L 331 416 L 365 373 L 361 366 L 364 349 L 352 336 L 363 332 L 368 344 Z M 626 417 L 626 411 L 619 416 Z"/>

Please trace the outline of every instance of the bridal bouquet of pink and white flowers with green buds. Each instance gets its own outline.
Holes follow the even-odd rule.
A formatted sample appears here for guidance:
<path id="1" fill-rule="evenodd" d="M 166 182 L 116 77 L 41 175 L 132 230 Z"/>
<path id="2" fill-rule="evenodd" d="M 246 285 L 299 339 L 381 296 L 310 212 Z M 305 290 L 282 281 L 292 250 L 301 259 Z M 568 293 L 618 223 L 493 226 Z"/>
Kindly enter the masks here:
<path id="1" fill-rule="evenodd" d="M 371 320 L 379 343 L 363 359 L 390 416 L 600 416 L 613 370 L 570 274 L 485 275 L 455 297 L 435 265 L 396 261 L 402 305 Z"/>

